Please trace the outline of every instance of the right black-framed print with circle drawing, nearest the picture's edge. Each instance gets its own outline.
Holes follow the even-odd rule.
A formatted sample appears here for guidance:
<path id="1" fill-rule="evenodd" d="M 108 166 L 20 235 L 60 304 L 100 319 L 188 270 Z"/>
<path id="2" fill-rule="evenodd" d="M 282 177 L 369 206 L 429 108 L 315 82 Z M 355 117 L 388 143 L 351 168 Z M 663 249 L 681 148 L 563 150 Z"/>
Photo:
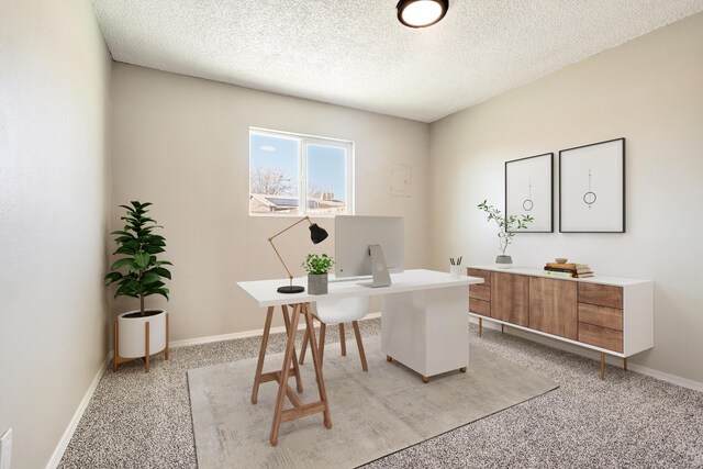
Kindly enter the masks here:
<path id="1" fill-rule="evenodd" d="M 625 138 L 559 152 L 559 232 L 625 233 Z"/>

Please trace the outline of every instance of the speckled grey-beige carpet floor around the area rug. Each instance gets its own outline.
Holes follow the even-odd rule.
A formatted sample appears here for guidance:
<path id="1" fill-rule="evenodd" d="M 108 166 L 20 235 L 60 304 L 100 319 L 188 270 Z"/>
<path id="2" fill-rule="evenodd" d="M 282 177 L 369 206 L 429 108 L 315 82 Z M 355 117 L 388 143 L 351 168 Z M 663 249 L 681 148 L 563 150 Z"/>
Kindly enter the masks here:
<path id="1" fill-rule="evenodd" d="M 365 337 L 380 334 L 379 320 L 360 325 Z M 560 388 L 366 468 L 703 468 L 703 393 L 610 366 L 602 381 L 594 360 L 483 331 L 479 338 L 471 325 L 473 344 Z M 269 351 L 283 345 L 272 335 Z M 181 347 L 148 373 L 137 362 L 109 369 L 59 468 L 196 468 L 188 369 L 252 358 L 258 347 L 258 337 Z"/>

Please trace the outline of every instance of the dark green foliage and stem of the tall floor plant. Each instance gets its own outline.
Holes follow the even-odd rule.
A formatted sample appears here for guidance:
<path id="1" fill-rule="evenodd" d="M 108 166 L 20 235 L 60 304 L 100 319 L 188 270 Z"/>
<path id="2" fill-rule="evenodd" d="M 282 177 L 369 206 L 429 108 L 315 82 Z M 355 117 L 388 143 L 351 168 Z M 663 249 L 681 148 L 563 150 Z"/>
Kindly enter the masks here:
<path id="1" fill-rule="evenodd" d="M 168 260 L 159 260 L 157 255 L 166 252 L 166 239 L 155 234 L 154 230 L 163 228 L 154 219 L 146 215 L 147 206 L 152 203 L 132 201 L 130 205 L 120 205 L 126 210 L 123 230 L 118 230 L 111 235 L 115 236 L 118 249 L 113 253 L 121 256 L 110 266 L 105 276 L 105 284 L 119 283 L 114 298 L 132 297 L 140 299 L 140 311 L 144 315 L 144 298 L 150 294 L 160 294 L 168 300 L 168 288 L 161 281 L 163 278 L 171 278 L 171 272 L 164 266 L 172 266 Z"/>

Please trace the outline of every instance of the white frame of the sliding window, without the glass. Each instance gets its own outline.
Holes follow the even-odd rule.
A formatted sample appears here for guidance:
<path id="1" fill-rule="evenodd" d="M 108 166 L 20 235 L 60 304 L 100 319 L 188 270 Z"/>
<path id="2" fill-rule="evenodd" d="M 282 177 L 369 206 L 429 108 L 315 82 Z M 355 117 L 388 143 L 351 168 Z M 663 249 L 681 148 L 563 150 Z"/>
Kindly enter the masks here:
<path id="1" fill-rule="evenodd" d="M 345 141 L 341 138 L 330 138 L 316 135 L 297 134 L 292 132 L 274 131 L 270 129 L 249 127 L 249 145 L 252 142 L 252 135 L 266 135 L 278 138 L 291 138 L 297 139 L 298 145 L 298 168 L 300 174 L 298 175 L 298 197 L 299 197 L 299 213 L 252 213 L 249 210 L 249 216 L 268 216 L 268 217 L 301 217 L 301 216 L 314 216 L 314 217 L 334 217 L 335 215 L 354 215 L 355 210 L 355 190 L 354 190 L 354 149 L 355 144 L 352 141 Z M 332 146 L 336 148 L 344 148 L 346 150 L 345 160 L 345 200 L 346 212 L 341 213 L 319 213 L 308 212 L 308 145 L 316 146 Z M 249 148 L 249 194 L 252 193 L 252 148 Z M 247 209 L 248 210 L 248 209 Z"/>

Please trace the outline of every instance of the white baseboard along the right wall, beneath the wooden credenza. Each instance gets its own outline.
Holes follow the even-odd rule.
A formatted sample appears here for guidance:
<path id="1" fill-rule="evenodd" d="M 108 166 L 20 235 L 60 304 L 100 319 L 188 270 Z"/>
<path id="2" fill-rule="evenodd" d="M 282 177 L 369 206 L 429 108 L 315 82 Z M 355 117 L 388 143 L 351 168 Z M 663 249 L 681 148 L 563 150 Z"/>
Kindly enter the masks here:
<path id="1" fill-rule="evenodd" d="M 475 324 L 478 324 L 478 319 L 476 317 L 471 317 L 470 321 Z M 501 328 L 499 323 L 484 321 L 483 328 L 487 328 L 487 327 L 492 330 L 498 330 L 498 331 L 500 331 Z M 580 355 L 581 357 L 585 357 L 585 358 L 591 358 L 592 360 L 600 361 L 601 359 L 601 355 L 599 353 L 589 350 L 588 348 L 581 348 L 574 345 L 565 344 L 562 342 L 550 339 L 548 337 L 544 337 L 538 334 L 531 334 L 529 332 L 526 332 L 526 331 L 510 328 L 509 325 L 505 327 L 505 332 L 526 338 L 528 340 L 548 345 L 549 347 L 558 348 L 559 350 L 569 351 L 571 354 Z M 607 355 L 605 356 L 605 362 L 616 367 L 623 366 L 622 358 L 612 357 Z M 627 362 L 627 369 L 634 372 L 638 372 L 640 375 L 646 375 L 648 377 L 658 379 L 660 381 L 667 381 L 672 384 L 680 386 L 682 388 L 688 388 L 694 391 L 703 392 L 703 382 L 694 381 L 688 378 L 682 378 L 676 375 L 670 375 L 663 371 L 655 370 L 652 368 L 647 368 L 641 365 L 633 364 L 632 361 Z"/>

